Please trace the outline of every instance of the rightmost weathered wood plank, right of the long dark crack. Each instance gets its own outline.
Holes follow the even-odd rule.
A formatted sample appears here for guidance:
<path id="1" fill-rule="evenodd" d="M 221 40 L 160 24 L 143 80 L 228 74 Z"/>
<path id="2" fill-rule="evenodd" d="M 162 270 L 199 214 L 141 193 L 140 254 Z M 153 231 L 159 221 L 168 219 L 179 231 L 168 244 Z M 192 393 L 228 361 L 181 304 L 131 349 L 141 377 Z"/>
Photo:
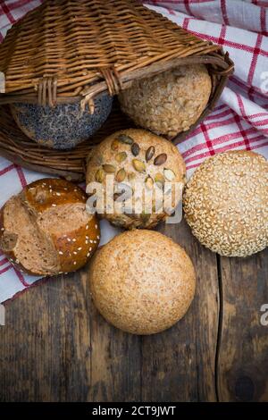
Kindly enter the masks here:
<path id="1" fill-rule="evenodd" d="M 218 394 L 222 401 L 268 400 L 268 249 L 255 256 L 221 257 L 222 327 Z"/>

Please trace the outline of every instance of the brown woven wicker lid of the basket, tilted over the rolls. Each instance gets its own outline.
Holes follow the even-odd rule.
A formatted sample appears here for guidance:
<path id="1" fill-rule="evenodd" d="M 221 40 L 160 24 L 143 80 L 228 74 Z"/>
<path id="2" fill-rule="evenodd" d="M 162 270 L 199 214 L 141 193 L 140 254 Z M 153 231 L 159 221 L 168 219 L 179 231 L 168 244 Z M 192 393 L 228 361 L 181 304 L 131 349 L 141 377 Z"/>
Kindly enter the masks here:
<path id="1" fill-rule="evenodd" d="M 114 95 L 131 80 L 202 57 L 218 71 L 231 71 L 220 46 L 133 0 L 46 0 L 0 46 L 0 103 L 93 106 L 101 91 Z"/>

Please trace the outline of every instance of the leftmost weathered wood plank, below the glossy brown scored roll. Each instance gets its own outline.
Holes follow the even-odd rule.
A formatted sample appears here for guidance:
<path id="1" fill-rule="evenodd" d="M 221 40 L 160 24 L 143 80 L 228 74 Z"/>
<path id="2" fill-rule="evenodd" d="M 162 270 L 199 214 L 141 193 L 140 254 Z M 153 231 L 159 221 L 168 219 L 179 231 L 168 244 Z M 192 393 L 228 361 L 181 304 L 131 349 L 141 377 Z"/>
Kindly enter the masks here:
<path id="1" fill-rule="evenodd" d="M 90 386 L 90 297 L 80 273 L 27 290 L 0 328 L 0 400 L 77 401 Z"/>

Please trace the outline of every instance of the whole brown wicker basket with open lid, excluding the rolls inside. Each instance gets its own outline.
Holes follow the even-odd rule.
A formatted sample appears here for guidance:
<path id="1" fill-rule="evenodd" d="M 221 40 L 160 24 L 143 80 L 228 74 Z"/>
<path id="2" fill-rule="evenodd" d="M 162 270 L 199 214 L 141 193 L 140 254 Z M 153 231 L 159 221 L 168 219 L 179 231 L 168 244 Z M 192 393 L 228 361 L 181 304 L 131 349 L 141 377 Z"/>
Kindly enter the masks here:
<path id="1" fill-rule="evenodd" d="M 96 135 L 72 150 L 52 150 L 28 139 L 16 126 L 9 104 L 54 106 L 80 102 L 94 108 L 94 97 L 116 95 L 133 80 L 183 64 L 205 63 L 212 94 L 198 121 L 213 109 L 233 63 L 221 46 L 204 41 L 133 0 L 46 0 L 7 33 L 0 46 L 0 155 L 40 172 L 84 178 L 88 151 L 114 130 L 134 126 L 117 101 Z M 177 144 L 188 132 L 172 139 Z"/>

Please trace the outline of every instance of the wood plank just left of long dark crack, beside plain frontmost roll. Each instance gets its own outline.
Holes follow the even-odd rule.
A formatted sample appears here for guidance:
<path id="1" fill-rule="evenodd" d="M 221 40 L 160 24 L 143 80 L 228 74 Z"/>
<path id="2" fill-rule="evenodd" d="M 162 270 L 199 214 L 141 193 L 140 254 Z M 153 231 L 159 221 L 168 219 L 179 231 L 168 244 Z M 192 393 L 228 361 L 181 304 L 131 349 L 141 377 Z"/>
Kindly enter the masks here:
<path id="1" fill-rule="evenodd" d="M 202 247 L 183 221 L 163 233 L 186 249 L 197 271 L 196 298 L 169 331 L 142 339 L 142 397 L 152 401 L 214 401 L 218 327 L 216 256 Z"/>

